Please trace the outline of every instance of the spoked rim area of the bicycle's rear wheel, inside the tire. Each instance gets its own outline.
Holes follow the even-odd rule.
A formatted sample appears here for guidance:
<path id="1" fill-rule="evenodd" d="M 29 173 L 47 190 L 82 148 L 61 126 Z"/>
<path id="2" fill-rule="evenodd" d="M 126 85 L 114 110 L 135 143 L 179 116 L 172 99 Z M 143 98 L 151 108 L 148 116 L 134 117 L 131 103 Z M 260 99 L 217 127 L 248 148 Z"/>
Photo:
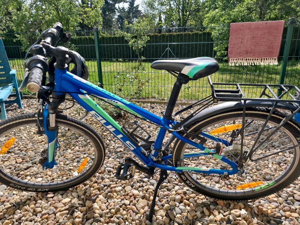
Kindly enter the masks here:
<path id="1" fill-rule="evenodd" d="M 256 127 L 258 127 L 258 128 L 259 128 L 259 126 L 262 126 L 263 122 L 265 121 L 265 120 L 260 119 L 260 118 L 257 119 L 257 118 L 246 117 L 246 120 L 253 120 L 253 119 L 254 119 L 254 121 L 256 119 L 256 121 L 260 122 L 260 123 L 257 123 L 257 125 L 256 125 Z M 239 122 L 238 122 L 238 120 L 239 120 Z M 227 122 L 231 121 L 232 124 L 233 124 L 232 120 L 224 119 L 224 120 L 217 121 L 216 123 L 214 123 L 212 125 L 205 126 L 204 128 L 202 128 L 202 131 L 208 133 L 209 131 L 211 131 L 211 130 L 217 128 L 217 127 L 220 127 L 220 124 L 221 123 L 222 124 L 226 123 L 226 121 Z M 241 120 L 241 118 L 237 118 L 235 121 L 236 121 L 235 123 L 241 123 L 242 120 Z M 227 125 L 227 124 L 225 124 L 225 125 Z M 267 123 L 267 126 L 276 126 L 276 125 L 277 125 L 277 123 L 274 123 L 274 122 L 271 122 L 271 121 L 269 121 Z M 253 126 L 252 126 L 252 128 L 251 128 L 251 126 L 246 128 L 245 129 L 245 134 L 247 134 L 247 132 L 251 133 L 252 130 L 255 128 L 254 123 L 253 123 Z M 190 130 L 194 129 L 195 127 L 191 128 Z M 271 131 L 271 130 L 272 129 L 270 129 L 268 131 Z M 294 138 L 294 136 L 286 128 L 282 127 L 282 128 L 279 129 L 279 131 L 280 131 L 280 134 L 282 134 L 282 133 L 286 134 L 286 136 L 288 138 L 287 137 L 278 138 L 278 133 L 275 133 L 274 135 L 272 135 L 271 138 L 274 137 L 273 138 L 274 140 L 278 140 L 277 143 L 278 142 L 280 143 L 280 141 L 284 141 L 284 143 L 289 142 L 290 145 L 296 145 L 297 144 L 297 141 Z M 228 132 L 228 133 L 231 134 L 232 131 Z M 228 140 L 228 138 L 229 138 L 228 133 L 217 134 L 215 136 L 223 138 L 225 140 Z M 262 136 L 265 135 L 265 134 L 267 134 L 267 131 L 264 131 L 262 133 Z M 246 142 L 244 141 L 245 145 L 247 145 L 247 143 L 251 143 L 250 137 L 252 137 L 252 136 L 249 135 L 247 137 L 249 138 L 249 141 L 248 142 L 247 142 L 247 140 L 246 140 Z M 269 139 L 270 141 L 272 141 L 271 138 Z M 267 141 L 267 143 L 269 142 L 269 140 Z M 230 140 L 228 140 L 228 141 L 230 141 Z M 208 147 L 208 148 L 213 148 L 215 143 L 216 142 L 208 140 L 207 143 L 205 143 L 205 146 Z M 257 146 L 257 144 L 256 144 L 256 146 Z M 257 156 L 259 156 L 259 155 L 262 156 L 262 154 L 266 154 L 267 147 L 269 147 L 271 145 L 272 145 L 272 142 L 265 145 L 265 146 L 263 145 L 262 146 L 263 151 L 261 151 L 260 153 L 257 151 L 256 153 L 259 153 L 259 154 L 256 154 L 256 155 L 253 154 L 253 158 L 256 159 L 256 158 L 258 158 Z M 286 148 L 288 147 L 287 145 L 282 145 L 282 146 L 285 146 Z M 184 147 L 183 147 L 184 150 L 182 151 L 182 154 L 181 154 L 181 157 L 180 157 L 181 166 L 184 166 L 184 167 L 203 167 L 205 165 L 205 162 L 207 162 L 208 161 L 207 159 L 209 158 L 209 159 L 214 160 L 213 161 L 214 165 L 210 165 L 210 167 L 207 167 L 207 168 L 213 168 L 213 166 L 216 167 L 217 162 L 218 162 L 219 168 L 221 168 L 221 166 L 223 166 L 223 169 L 224 169 L 224 165 L 221 164 L 221 161 L 219 161 L 215 158 L 212 158 L 211 156 L 202 156 L 202 157 L 199 157 L 199 158 L 189 158 L 189 159 L 183 158 L 184 153 L 189 153 L 189 152 L 194 152 L 194 151 L 199 152 L 199 149 L 196 150 L 194 148 L 195 150 L 193 150 L 192 148 L 189 149 L 189 147 L 191 147 L 191 146 L 188 145 L 188 144 L 185 144 Z M 223 145 L 223 147 L 225 147 L 225 146 Z M 186 151 L 187 148 L 189 149 L 188 151 Z M 278 149 L 278 148 L 279 148 L 279 146 L 277 148 L 274 148 L 274 150 L 272 150 L 272 151 L 275 152 L 276 149 Z M 259 176 L 257 176 L 256 174 L 260 173 L 260 171 L 252 170 L 253 168 L 257 168 L 257 163 L 249 162 L 249 160 L 248 160 L 245 163 L 246 164 L 245 165 L 245 173 L 242 174 L 243 180 L 240 177 L 236 177 L 234 179 L 235 175 L 233 175 L 233 177 L 231 177 L 231 179 L 228 179 L 228 178 L 225 179 L 224 175 L 218 175 L 218 176 L 213 176 L 212 177 L 212 176 L 205 176 L 205 175 L 200 175 L 200 174 L 196 175 L 197 173 L 191 173 L 191 172 L 183 172 L 183 173 L 181 173 L 182 174 L 181 176 L 183 176 L 183 174 L 184 174 L 185 179 L 186 179 L 186 177 L 188 177 L 189 180 L 193 184 L 197 185 L 198 187 L 200 187 L 202 189 L 205 189 L 208 192 L 213 192 L 213 193 L 218 192 L 220 194 L 226 194 L 226 195 L 245 195 L 245 194 L 253 194 L 253 192 L 259 193 L 259 192 L 265 191 L 266 189 L 268 189 L 270 187 L 272 188 L 272 187 L 275 187 L 276 185 L 279 185 L 294 171 L 295 167 L 297 166 L 297 163 L 295 163 L 295 162 L 298 162 L 298 160 L 299 160 L 298 148 L 299 147 L 296 147 L 296 148 L 293 148 L 289 151 L 286 151 L 286 152 L 283 152 L 283 153 L 278 153 L 278 154 L 274 155 L 273 158 L 277 156 L 277 159 L 274 158 L 272 161 L 269 162 L 269 164 L 267 164 L 267 162 L 259 162 L 259 167 L 260 168 L 262 168 L 263 166 L 267 166 L 267 169 L 261 170 L 261 171 L 263 171 L 263 173 L 260 174 Z M 282 148 L 282 149 L 284 149 L 284 148 Z M 230 151 L 227 151 L 227 153 L 228 152 L 230 152 Z M 276 171 L 274 171 L 274 164 L 275 163 L 278 164 L 279 162 L 280 162 L 280 164 L 277 165 L 277 167 L 275 167 Z M 285 167 L 284 163 L 289 163 L 289 165 Z M 270 171 L 269 168 L 272 168 L 273 171 Z M 284 168 L 284 170 L 282 168 Z M 281 173 L 278 176 L 278 174 L 276 174 L 276 173 L 279 173 L 279 172 L 281 172 Z M 246 175 L 246 178 L 244 178 L 245 175 Z M 251 175 L 252 175 L 252 177 L 251 177 Z M 229 178 L 230 178 L 230 176 L 229 176 Z M 225 183 L 224 180 L 227 180 L 227 182 Z M 257 181 L 259 181 L 259 180 L 262 180 L 263 184 L 257 185 L 257 183 L 258 183 Z M 223 181 L 223 183 L 222 183 L 222 181 Z M 252 182 L 257 182 L 257 183 L 255 183 L 255 187 L 252 187 L 252 188 L 242 187 L 241 190 L 237 190 L 236 188 L 232 188 L 232 186 L 237 187 L 237 186 L 241 186 L 242 184 L 252 183 Z M 230 189 L 230 188 L 232 188 L 232 189 Z"/>

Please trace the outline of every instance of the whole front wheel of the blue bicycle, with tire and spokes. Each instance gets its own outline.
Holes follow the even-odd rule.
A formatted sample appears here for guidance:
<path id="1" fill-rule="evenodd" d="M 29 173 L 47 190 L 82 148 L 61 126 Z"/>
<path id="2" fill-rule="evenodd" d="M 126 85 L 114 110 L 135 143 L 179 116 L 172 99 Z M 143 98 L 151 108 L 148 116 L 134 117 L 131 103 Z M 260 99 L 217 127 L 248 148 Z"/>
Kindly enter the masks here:
<path id="1" fill-rule="evenodd" d="M 23 191 L 55 192 L 83 183 L 102 166 L 105 147 L 87 124 L 57 114 L 56 165 L 47 160 L 47 136 L 37 134 L 37 114 L 25 114 L 0 123 L 0 182 Z M 42 124 L 42 118 L 39 119 Z M 10 142 L 10 143 L 9 143 Z M 9 148 L 3 148 L 3 146 Z"/>

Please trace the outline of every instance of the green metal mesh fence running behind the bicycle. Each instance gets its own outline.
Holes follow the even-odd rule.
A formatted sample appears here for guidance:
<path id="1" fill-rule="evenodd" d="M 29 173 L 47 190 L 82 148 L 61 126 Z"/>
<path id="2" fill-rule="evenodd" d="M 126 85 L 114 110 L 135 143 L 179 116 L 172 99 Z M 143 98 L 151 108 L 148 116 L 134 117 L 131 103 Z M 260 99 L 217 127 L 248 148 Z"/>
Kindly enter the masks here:
<path id="1" fill-rule="evenodd" d="M 226 27 L 226 26 L 224 26 Z M 282 35 L 278 65 L 229 66 L 227 58 L 216 57 L 214 42 L 209 32 L 214 27 L 155 28 L 138 30 L 147 37 L 143 50 L 137 54 L 134 45 L 118 30 L 89 30 L 73 32 L 66 46 L 78 51 L 87 61 L 90 81 L 102 84 L 110 92 L 129 98 L 168 99 L 175 78 L 165 71 L 153 70 L 151 62 L 158 59 L 185 59 L 200 56 L 215 57 L 220 69 L 212 75 L 215 82 L 239 83 L 287 83 L 300 84 L 300 26 L 292 20 L 287 22 Z M 226 27 L 228 29 L 228 27 Z M 138 38 L 136 30 L 124 30 Z M 22 80 L 21 58 L 24 46 L 17 37 L 36 40 L 38 33 L 3 34 L 3 42 L 12 67 Z M 135 36 L 136 35 L 136 36 Z M 223 40 L 228 43 L 228 40 Z M 254 97 L 255 90 L 249 90 Z M 179 96 L 182 100 L 197 100 L 210 94 L 207 78 L 184 85 Z"/>

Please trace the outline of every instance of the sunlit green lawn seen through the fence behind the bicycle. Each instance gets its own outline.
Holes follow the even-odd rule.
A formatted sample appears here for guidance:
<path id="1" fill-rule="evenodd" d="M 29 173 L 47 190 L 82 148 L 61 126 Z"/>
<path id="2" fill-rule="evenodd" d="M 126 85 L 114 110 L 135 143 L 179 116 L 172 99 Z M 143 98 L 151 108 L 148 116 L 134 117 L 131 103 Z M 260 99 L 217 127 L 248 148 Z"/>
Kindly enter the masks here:
<path id="1" fill-rule="evenodd" d="M 21 59 L 10 60 L 11 66 L 17 69 L 17 76 L 22 80 L 22 71 L 24 70 Z M 98 68 L 96 61 L 87 61 L 89 68 L 89 79 L 91 82 L 98 83 Z M 144 81 L 148 78 L 150 82 L 146 83 L 141 91 L 141 98 L 168 99 L 175 77 L 165 71 L 153 70 L 151 63 L 133 61 L 103 61 L 102 74 L 104 88 L 110 92 L 118 89 L 123 90 L 123 96 L 131 97 L 136 92 L 138 82 L 127 81 L 123 83 L 123 78 L 130 73 L 138 77 L 138 80 Z M 281 74 L 281 63 L 278 65 L 256 65 L 256 66 L 229 66 L 228 63 L 220 63 L 220 69 L 211 76 L 213 82 L 219 83 L 263 83 L 277 84 Z M 287 67 L 286 84 L 299 85 L 300 63 L 290 61 Z M 190 81 L 184 85 L 179 96 L 180 99 L 198 100 L 211 93 L 207 78 L 197 81 Z M 247 88 L 245 94 L 249 97 L 257 97 L 260 93 L 259 88 Z M 136 96 L 136 95 L 135 95 Z"/>

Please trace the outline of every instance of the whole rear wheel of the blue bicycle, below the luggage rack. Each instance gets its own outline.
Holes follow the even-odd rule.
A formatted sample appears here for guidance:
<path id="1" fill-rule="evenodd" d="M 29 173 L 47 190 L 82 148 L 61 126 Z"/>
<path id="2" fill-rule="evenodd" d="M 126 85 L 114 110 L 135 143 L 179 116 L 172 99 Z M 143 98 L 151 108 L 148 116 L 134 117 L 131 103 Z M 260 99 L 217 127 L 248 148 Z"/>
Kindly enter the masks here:
<path id="1" fill-rule="evenodd" d="M 186 171 L 178 173 L 179 178 L 199 193 L 225 200 L 248 200 L 267 196 L 292 183 L 300 175 L 300 152 L 297 142 L 300 139 L 299 126 L 288 121 L 264 141 L 283 118 L 281 114 L 273 113 L 260 137 L 257 137 L 268 115 L 267 109 L 246 110 L 243 147 L 241 146 L 241 132 L 239 132 L 243 119 L 242 111 L 220 113 L 189 126 L 187 128 L 189 133 L 196 135 L 201 131 L 213 133 L 214 136 L 231 143 L 230 146 L 222 143 L 222 155 L 236 163 L 238 163 L 237 159 L 241 149 L 243 152 L 249 152 L 252 147 L 258 148 L 253 152 L 251 160 L 248 159 L 243 163 L 243 173 L 207 175 L 201 171 L 197 173 Z M 257 143 L 255 143 L 256 139 Z M 214 149 L 216 143 L 216 141 L 208 139 L 204 146 Z M 210 155 L 200 154 L 199 157 L 188 157 L 186 154 L 193 152 L 199 153 L 199 149 L 183 141 L 176 141 L 173 147 L 174 166 L 208 169 L 231 168 L 228 164 Z"/>

